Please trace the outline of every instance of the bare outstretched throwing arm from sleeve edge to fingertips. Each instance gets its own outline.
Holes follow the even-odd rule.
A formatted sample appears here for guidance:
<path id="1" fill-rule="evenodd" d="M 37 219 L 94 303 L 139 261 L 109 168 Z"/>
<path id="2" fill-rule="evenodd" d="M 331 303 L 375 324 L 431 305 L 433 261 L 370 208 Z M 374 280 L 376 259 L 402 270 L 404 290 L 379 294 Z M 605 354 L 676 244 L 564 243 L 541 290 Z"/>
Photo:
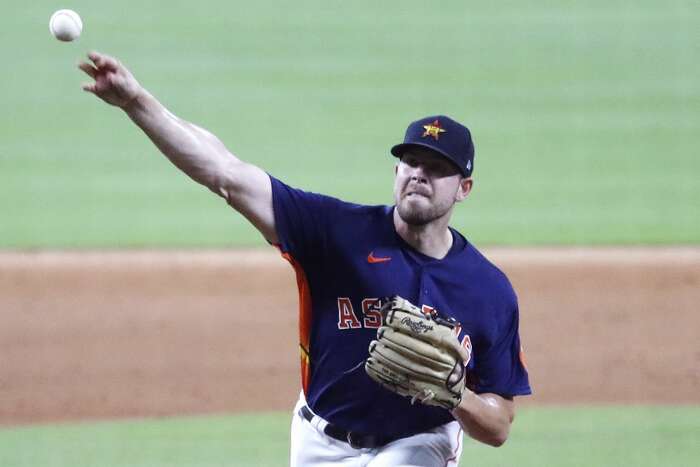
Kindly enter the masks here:
<path id="1" fill-rule="evenodd" d="M 83 89 L 124 110 L 173 164 L 226 199 L 272 243 L 277 243 L 270 178 L 236 158 L 209 131 L 178 118 L 144 89 L 118 60 L 91 52 L 80 69 L 95 82 Z"/>

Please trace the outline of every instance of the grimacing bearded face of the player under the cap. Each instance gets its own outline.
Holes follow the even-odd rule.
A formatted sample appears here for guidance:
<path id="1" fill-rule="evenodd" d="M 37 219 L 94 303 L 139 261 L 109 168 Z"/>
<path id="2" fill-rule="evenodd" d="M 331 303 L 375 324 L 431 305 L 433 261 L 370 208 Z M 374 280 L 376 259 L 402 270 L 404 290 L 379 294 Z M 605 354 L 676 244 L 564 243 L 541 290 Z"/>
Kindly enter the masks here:
<path id="1" fill-rule="evenodd" d="M 469 193 L 471 180 L 465 180 L 445 157 L 429 149 L 409 149 L 396 166 L 394 179 L 399 216 L 407 224 L 425 225 L 448 215 Z"/>

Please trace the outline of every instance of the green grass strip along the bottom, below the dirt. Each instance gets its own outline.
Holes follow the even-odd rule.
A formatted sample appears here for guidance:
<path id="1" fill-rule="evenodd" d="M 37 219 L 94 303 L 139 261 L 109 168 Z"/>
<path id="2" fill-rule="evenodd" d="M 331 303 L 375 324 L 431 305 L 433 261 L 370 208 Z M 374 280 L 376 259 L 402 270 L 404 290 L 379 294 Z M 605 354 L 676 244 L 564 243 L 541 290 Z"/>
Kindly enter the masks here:
<path id="1" fill-rule="evenodd" d="M 689 467 L 699 420 L 698 407 L 527 408 L 503 447 L 467 441 L 460 465 Z M 277 467 L 288 450 L 279 413 L 0 429 L 3 467 Z"/>

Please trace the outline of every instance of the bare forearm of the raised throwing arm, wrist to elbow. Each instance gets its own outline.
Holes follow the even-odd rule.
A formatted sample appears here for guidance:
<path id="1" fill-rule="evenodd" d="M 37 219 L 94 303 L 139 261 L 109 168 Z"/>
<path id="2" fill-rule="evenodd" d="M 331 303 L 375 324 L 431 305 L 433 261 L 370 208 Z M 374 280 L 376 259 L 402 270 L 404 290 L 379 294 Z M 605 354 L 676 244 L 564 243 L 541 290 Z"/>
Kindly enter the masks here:
<path id="1" fill-rule="evenodd" d="M 123 109 L 180 170 L 226 196 L 224 174 L 239 161 L 215 135 L 173 115 L 145 90 Z"/>

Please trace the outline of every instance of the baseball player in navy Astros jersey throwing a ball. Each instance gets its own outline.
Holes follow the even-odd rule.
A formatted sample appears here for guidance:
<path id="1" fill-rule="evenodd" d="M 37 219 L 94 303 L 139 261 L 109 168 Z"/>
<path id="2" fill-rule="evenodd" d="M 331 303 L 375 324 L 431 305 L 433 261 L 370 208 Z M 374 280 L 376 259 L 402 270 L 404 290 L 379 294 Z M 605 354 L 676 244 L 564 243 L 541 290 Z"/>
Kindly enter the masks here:
<path id="1" fill-rule="evenodd" d="M 449 227 L 472 188 L 469 130 L 411 123 L 393 206 L 286 185 L 161 105 L 116 59 L 90 53 L 83 86 L 120 107 L 195 181 L 277 246 L 297 274 L 302 389 L 292 466 L 456 466 L 462 433 L 508 437 L 530 393 L 506 276 Z"/>

